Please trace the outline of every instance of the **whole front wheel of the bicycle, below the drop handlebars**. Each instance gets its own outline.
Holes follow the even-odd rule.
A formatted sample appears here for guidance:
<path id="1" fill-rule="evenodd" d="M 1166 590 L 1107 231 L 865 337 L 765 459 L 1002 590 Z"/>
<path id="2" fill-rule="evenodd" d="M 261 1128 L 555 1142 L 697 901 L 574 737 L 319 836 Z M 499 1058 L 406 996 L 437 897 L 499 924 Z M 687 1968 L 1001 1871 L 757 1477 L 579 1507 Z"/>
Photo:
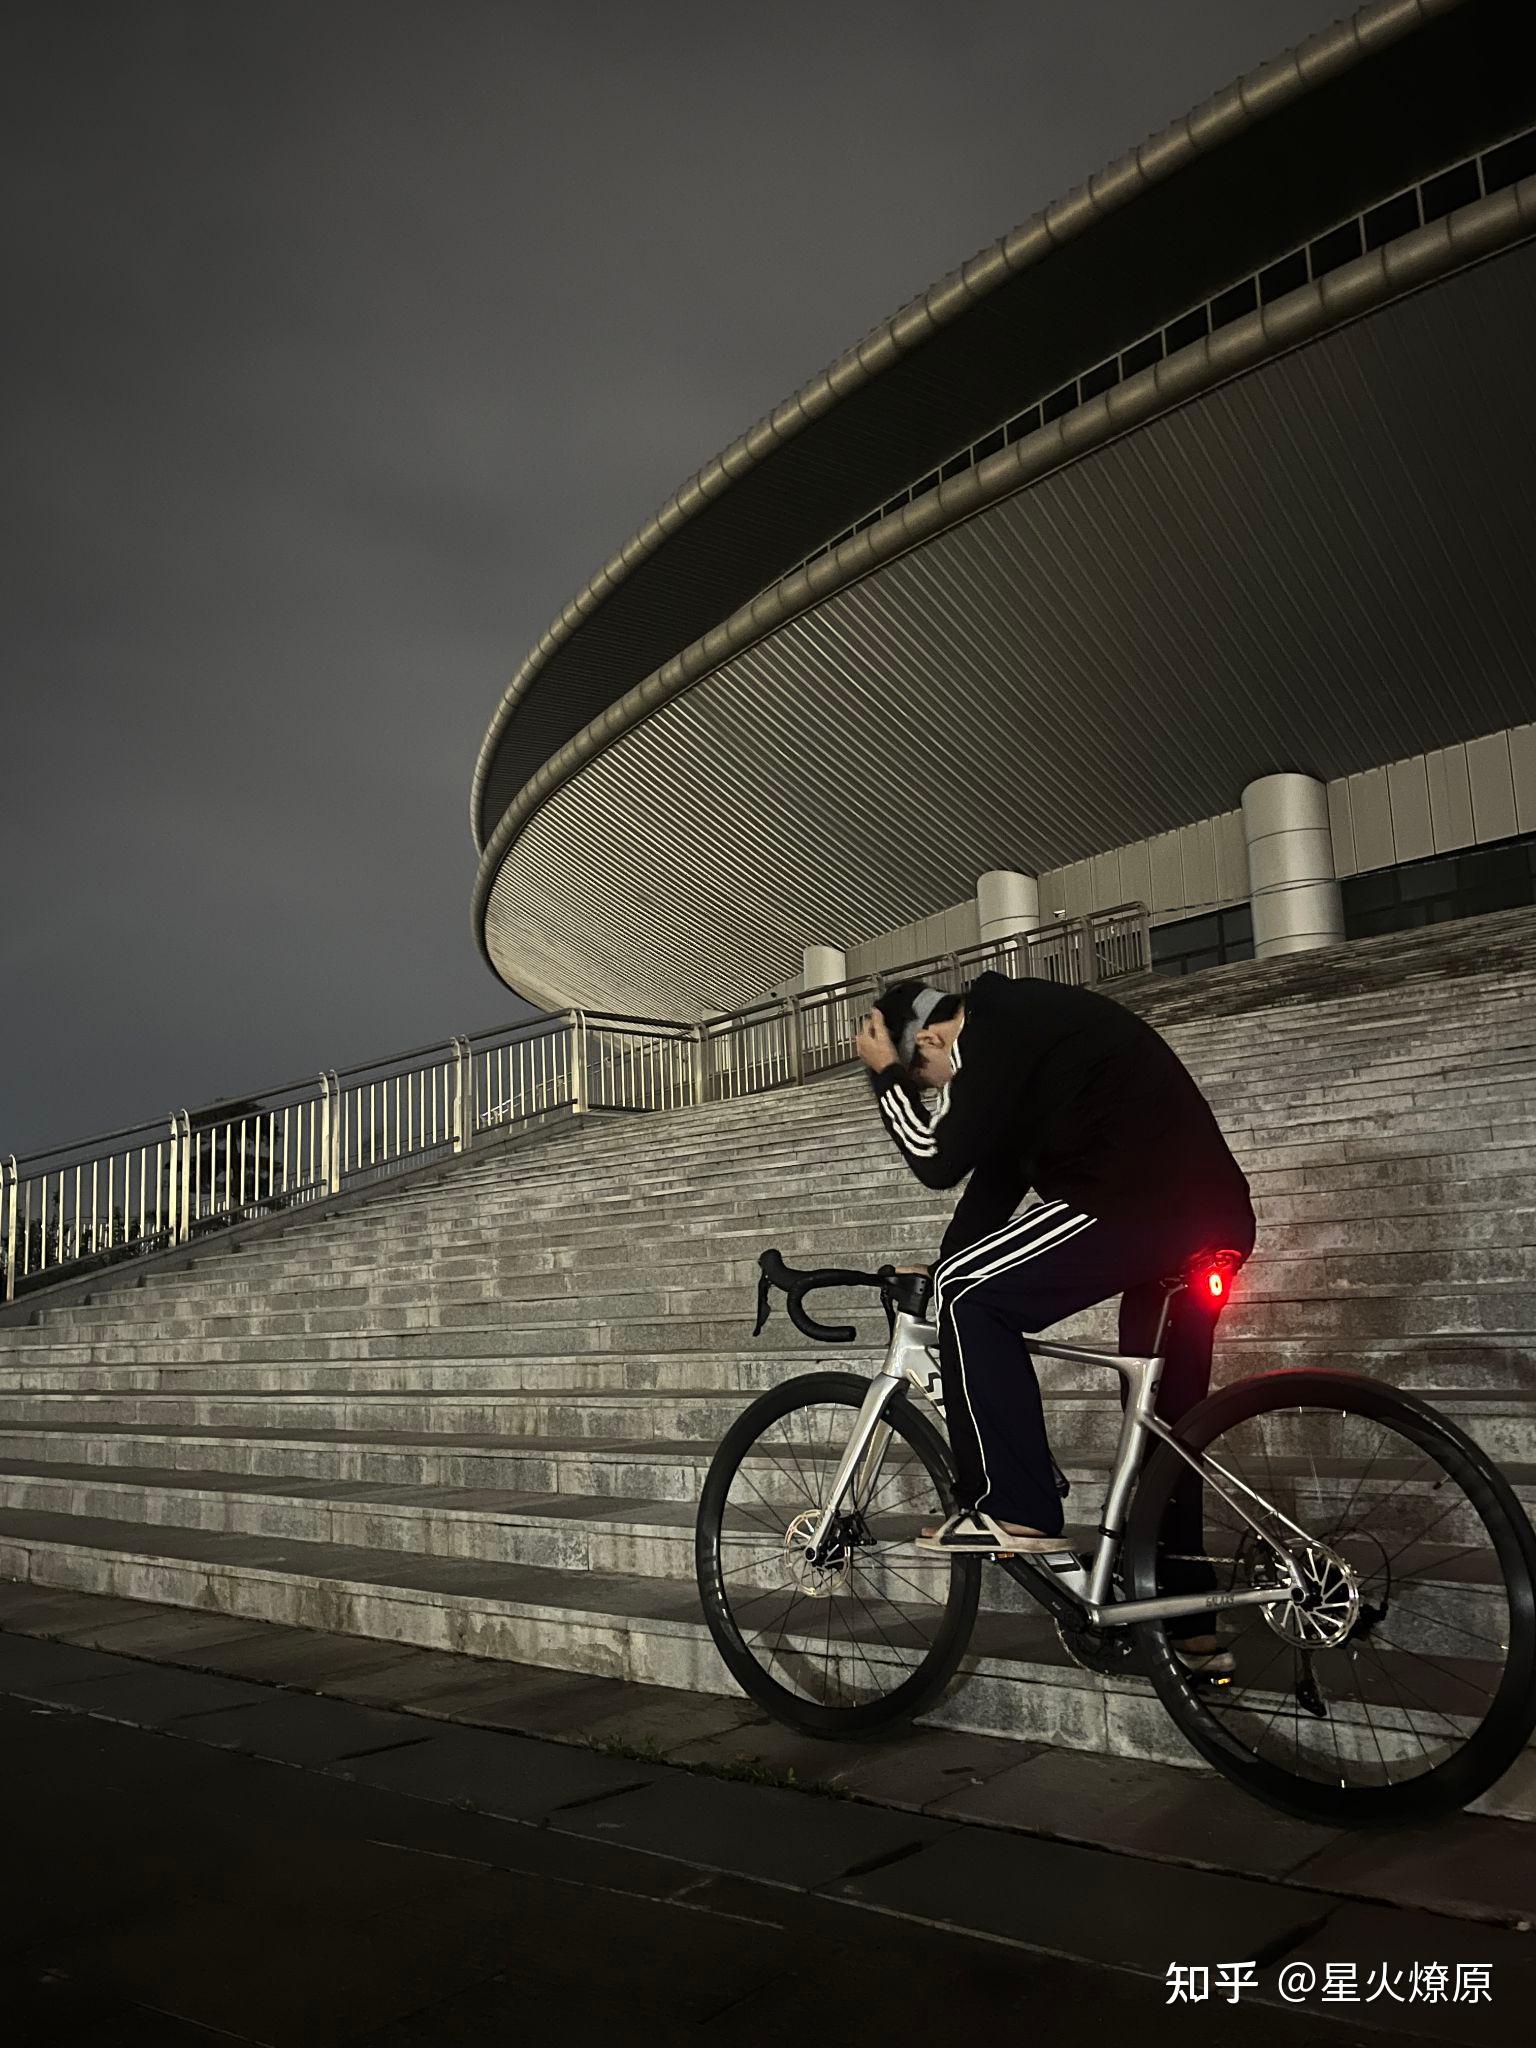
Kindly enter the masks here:
<path id="1" fill-rule="evenodd" d="M 698 1501 L 705 1620 L 741 1690 L 805 1735 L 860 1737 L 911 1720 L 965 1655 L 981 1561 L 924 1556 L 911 1538 L 954 1507 L 938 1430 L 897 1391 L 874 1456 L 838 1503 L 827 1563 L 805 1548 L 868 1380 L 811 1372 L 772 1386 L 727 1432 Z"/>

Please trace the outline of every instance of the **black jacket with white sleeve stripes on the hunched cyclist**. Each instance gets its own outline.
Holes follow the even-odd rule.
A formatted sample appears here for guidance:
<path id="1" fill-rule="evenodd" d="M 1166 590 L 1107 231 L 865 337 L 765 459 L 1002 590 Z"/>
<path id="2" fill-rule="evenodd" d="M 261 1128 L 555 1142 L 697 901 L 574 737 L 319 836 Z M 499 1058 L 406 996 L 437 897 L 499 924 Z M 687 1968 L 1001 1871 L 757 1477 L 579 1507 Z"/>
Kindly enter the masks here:
<path id="1" fill-rule="evenodd" d="M 940 1257 L 1001 1229 L 1024 1194 L 1090 1217 L 1190 1214 L 1198 1243 L 1253 1243 L 1247 1180 L 1206 1098 L 1151 1024 L 1092 989 L 977 975 L 932 1110 L 899 1065 L 870 1073 L 926 1188 L 965 1190 Z M 1190 1245 L 1196 1249 L 1196 1243 Z"/>

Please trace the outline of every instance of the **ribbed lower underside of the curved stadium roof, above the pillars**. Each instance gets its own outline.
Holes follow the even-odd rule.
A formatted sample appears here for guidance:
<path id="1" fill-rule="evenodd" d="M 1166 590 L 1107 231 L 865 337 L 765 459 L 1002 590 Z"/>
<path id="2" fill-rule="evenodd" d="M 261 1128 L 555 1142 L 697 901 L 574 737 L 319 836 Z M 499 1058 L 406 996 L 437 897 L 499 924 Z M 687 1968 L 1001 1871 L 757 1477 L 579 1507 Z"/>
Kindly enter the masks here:
<path id="1" fill-rule="evenodd" d="M 535 999 L 737 1008 L 942 909 L 1536 713 L 1536 252 L 1223 385 L 664 705 L 487 905 Z"/>

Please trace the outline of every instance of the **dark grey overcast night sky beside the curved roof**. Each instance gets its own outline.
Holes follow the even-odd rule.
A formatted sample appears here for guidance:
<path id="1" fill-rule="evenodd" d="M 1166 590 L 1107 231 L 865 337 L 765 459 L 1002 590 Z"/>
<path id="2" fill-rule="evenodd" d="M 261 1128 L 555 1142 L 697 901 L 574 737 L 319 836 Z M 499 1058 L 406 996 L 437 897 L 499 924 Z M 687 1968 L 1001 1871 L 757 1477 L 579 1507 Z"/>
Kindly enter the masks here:
<path id="1" fill-rule="evenodd" d="M 1339 0 L 10 0 L 0 1153 L 512 1022 L 555 612 L 879 319 Z"/>

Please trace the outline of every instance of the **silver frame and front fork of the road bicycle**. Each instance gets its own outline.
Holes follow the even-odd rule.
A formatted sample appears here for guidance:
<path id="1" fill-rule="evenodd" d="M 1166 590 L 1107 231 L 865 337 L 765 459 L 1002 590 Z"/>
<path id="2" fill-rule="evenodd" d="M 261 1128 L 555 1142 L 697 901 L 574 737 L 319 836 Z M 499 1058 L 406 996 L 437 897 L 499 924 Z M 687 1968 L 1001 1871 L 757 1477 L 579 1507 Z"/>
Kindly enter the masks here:
<path id="1" fill-rule="evenodd" d="M 1120 1442 L 1114 1452 L 1114 1466 L 1110 1468 L 1110 1487 L 1104 1499 L 1104 1520 L 1100 1522 L 1100 1540 L 1098 1550 L 1094 1552 L 1094 1563 L 1085 1571 L 1081 1559 L 1067 1546 L 1065 1540 L 1059 1552 L 1020 1552 L 1018 1563 L 1044 1567 L 1055 1583 L 1083 1608 L 1083 1616 L 1094 1628 L 1118 1628 L 1128 1622 L 1165 1622 L 1184 1614 L 1212 1614 L 1227 1608 L 1264 1608 L 1276 1606 L 1282 1599 L 1290 1602 L 1305 1597 L 1305 1579 L 1294 1561 L 1282 1550 L 1280 1554 L 1284 1556 L 1286 1571 L 1290 1573 L 1288 1587 L 1262 1587 L 1247 1593 L 1178 1593 L 1159 1599 L 1110 1599 L 1110 1575 L 1114 1569 L 1114 1556 L 1120 1548 L 1120 1538 L 1124 1534 L 1122 1518 L 1130 1501 L 1130 1491 L 1137 1483 L 1137 1473 L 1141 1470 L 1141 1460 L 1147 1452 L 1147 1438 L 1151 1436 L 1171 1444 L 1174 1452 L 1200 1473 L 1210 1491 L 1221 1495 L 1221 1499 L 1227 1501 L 1227 1505 L 1239 1513 L 1251 1530 L 1264 1536 L 1266 1542 L 1274 1544 L 1274 1536 L 1260 1526 L 1260 1522 L 1239 1499 L 1233 1497 L 1233 1493 L 1227 1491 L 1225 1485 L 1221 1485 L 1223 1479 L 1229 1481 L 1239 1493 L 1245 1493 L 1251 1501 L 1255 1501 L 1272 1518 L 1272 1522 L 1284 1522 L 1284 1526 L 1303 1540 L 1307 1540 L 1307 1532 L 1296 1528 L 1288 1516 L 1284 1516 L 1278 1507 L 1272 1507 L 1270 1501 L 1253 1493 L 1251 1487 L 1243 1485 L 1241 1479 L 1229 1473 L 1214 1458 L 1202 1458 L 1188 1452 L 1184 1444 L 1176 1442 L 1167 1423 L 1153 1415 L 1157 1384 L 1163 1376 L 1161 1352 L 1153 1352 L 1151 1358 L 1120 1356 L 1118 1352 L 1085 1352 L 1075 1343 L 1053 1343 L 1049 1337 L 1032 1335 L 1026 1335 L 1024 1343 L 1032 1354 L 1042 1358 L 1067 1358 L 1075 1364 L 1110 1366 L 1126 1384 L 1126 1405 L 1124 1419 L 1120 1421 Z M 827 1503 L 823 1505 L 815 1528 L 807 1536 L 807 1554 L 819 1550 L 827 1540 L 834 1513 L 838 1511 L 850 1481 L 854 1487 L 854 1507 L 866 1503 L 874 1493 L 881 1466 L 885 1462 L 885 1450 L 891 1442 L 891 1423 L 881 1417 L 887 1403 L 903 1384 L 913 1386 L 940 1417 L 944 1415 L 938 1370 L 938 1327 L 934 1323 L 920 1323 L 918 1317 L 897 1311 L 885 1364 L 874 1374 L 870 1389 L 864 1395 L 854 1432 L 844 1446 L 842 1458 L 838 1460 Z M 1221 1475 L 1221 1479 L 1217 1479 L 1217 1475 Z"/>

